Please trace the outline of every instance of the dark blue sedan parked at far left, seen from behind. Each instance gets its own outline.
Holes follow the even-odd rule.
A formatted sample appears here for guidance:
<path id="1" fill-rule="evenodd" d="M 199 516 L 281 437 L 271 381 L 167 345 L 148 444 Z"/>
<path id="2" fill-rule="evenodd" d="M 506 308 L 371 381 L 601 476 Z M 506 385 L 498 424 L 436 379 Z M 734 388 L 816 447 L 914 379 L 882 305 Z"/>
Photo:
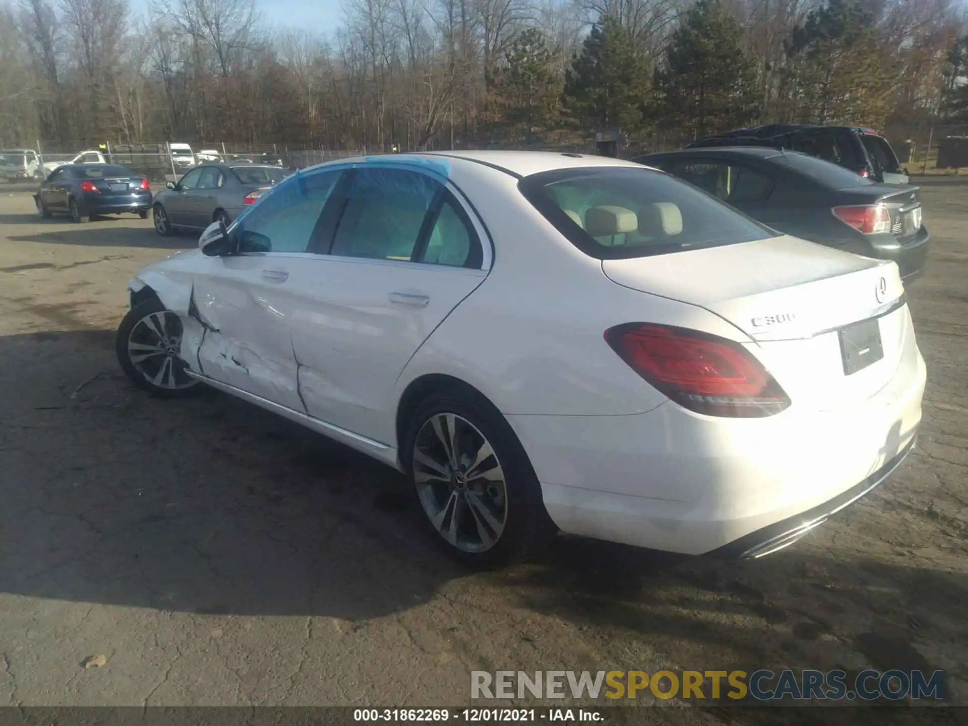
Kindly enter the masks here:
<path id="1" fill-rule="evenodd" d="M 151 208 L 151 185 L 126 166 L 68 164 L 50 172 L 34 202 L 44 219 L 69 214 L 87 222 L 96 215 L 132 213 L 143 220 Z"/>

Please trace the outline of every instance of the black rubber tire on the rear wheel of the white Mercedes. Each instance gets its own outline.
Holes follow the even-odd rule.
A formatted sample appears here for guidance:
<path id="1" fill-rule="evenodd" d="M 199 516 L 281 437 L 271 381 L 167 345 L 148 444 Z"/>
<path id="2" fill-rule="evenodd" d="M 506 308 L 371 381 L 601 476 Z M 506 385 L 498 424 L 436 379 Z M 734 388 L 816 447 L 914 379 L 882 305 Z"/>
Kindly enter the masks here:
<path id="1" fill-rule="evenodd" d="M 495 456 L 495 464 L 503 470 L 503 499 L 506 499 L 503 529 L 499 533 L 497 542 L 483 551 L 469 552 L 447 541 L 431 521 L 431 515 L 425 508 L 418 490 L 413 466 L 414 446 L 418 435 L 424 429 L 424 425 L 430 425 L 432 419 L 439 414 L 454 414 L 464 419 L 465 422 L 469 422 L 476 434 L 490 443 Z M 421 451 L 426 453 L 427 449 L 421 448 Z M 410 490 L 416 500 L 421 522 L 444 551 L 471 567 L 492 569 L 513 561 L 524 560 L 546 545 L 557 531 L 545 510 L 544 501 L 541 497 L 541 486 L 534 469 L 531 468 L 528 454 L 514 434 L 510 424 L 507 423 L 507 420 L 497 408 L 469 391 L 459 388 L 440 391 L 424 400 L 415 409 L 403 440 L 401 461 L 407 472 Z M 483 460 L 481 464 L 484 465 L 488 461 L 491 461 L 491 459 Z M 482 468 L 488 469 L 489 467 L 482 466 Z M 470 467 L 469 469 L 475 468 Z M 478 478 L 478 482 L 480 480 Z M 471 481 L 472 479 L 465 479 L 463 484 L 463 487 L 468 491 L 474 486 Z M 445 491 L 447 486 L 450 485 L 437 483 L 434 486 Z M 490 486 L 490 484 L 485 486 Z M 469 505 L 465 504 L 464 506 L 465 510 L 469 512 Z M 495 514 L 495 511 L 492 510 L 491 514 Z M 464 516 L 466 517 L 467 514 Z M 450 519 L 453 519 L 453 517 Z M 474 519 L 480 521 L 479 517 L 472 517 L 467 520 L 468 529 L 465 529 L 471 535 L 472 530 L 469 528 Z M 446 518 L 444 518 L 444 521 L 447 521 Z"/>

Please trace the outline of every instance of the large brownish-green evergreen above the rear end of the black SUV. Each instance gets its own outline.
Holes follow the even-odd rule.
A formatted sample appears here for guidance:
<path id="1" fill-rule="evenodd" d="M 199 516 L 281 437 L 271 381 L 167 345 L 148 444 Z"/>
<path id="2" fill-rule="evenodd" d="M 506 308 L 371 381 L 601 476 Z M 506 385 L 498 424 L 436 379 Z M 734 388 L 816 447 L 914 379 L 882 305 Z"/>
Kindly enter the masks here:
<path id="1" fill-rule="evenodd" d="M 884 124 L 893 107 L 893 74 L 862 0 L 828 0 L 784 45 L 787 120 Z"/>

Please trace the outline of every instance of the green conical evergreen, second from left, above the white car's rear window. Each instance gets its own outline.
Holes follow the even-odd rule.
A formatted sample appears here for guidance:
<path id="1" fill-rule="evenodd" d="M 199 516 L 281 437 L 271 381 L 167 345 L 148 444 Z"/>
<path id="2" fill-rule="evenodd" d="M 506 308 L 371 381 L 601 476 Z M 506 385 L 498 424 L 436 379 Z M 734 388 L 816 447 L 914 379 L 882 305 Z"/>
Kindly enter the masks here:
<path id="1" fill-rule="evenodd" d="M 602 15 L 564 75 L 565 119 L 587 131 L 635 129 L 648 90 L 645 69 L 628 31 L 615 17 Z"/>

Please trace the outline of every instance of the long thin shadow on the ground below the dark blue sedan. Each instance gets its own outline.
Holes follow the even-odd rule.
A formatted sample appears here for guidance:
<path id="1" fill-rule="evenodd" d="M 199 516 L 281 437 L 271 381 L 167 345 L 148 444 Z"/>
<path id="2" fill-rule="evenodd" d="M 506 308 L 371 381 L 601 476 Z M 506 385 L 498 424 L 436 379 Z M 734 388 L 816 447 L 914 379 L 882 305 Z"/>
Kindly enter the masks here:
<path id="1" fill-rule="evenodd" d="M 163 237 L 155 231 L 154 227 L 129 227 L 123 224 L 133 219 L 136 217 L 95 217 L 87 224 L 75 225 L 67 219 L 41 220 L 35 217 L 30 224 L 50 225 L 57 228 L 34 234 L 8 234 L 7 238 L 16 242 L 83 247 L 142 247 L 157 250 L 189 250 L 197 247 L 197 234 L 186 233 Z M 0 224 L 3 223 L 3 216 L 0 216 Z M 23 223 L 9 222 L 8 224 Z"/>

